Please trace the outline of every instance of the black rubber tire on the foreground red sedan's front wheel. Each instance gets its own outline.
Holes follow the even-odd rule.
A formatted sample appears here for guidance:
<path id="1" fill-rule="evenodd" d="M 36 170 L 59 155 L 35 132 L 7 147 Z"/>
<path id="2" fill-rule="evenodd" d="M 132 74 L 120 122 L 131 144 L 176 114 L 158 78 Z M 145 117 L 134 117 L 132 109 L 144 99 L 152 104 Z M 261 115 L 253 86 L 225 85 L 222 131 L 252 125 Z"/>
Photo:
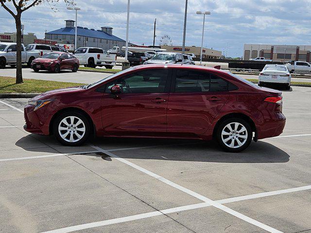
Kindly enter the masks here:
<path id="1" fill-rule="evenodd" d="M 65 137 L 65 139 L 60 135 L 60 133 L 63 133 L 66 134 L 66 130 L 65 131 L 59 131 L 58 127 L 59 125 L 61 127 L 64 127 L 65 128 L 65 124 L 62 123 L 61 124 L 61 121 L 63 121 L 64 119 L 66 119 L 67 117 L 70 117 L 70 116 L 74 116 L 76 118 L 74 118 L 74 123 L 77 123 L 77 118 L 79 118 L 80 120 L 82 120 L 83 124 L 84 124 L 84 127 L 85 127 L 85 132 L 83 134 L 83 132 L 80 132 L 80 131 L 77 131 L 75 133 L 73 133 L 72 131 L 69 132 L 69 134 Z M 69 122 L 70 118 L 67 118 L 67 123 L 70 123 Z M 83 126 L 82 123 L 80 123 L 78 126 Z M 70 125 L 71 127 L 71 125 Z M 72 127 L 74 127 L 74 125 L 72 125 Z M 79 127 L 76 127 L 76 128 L 69 128 L 69 130 L 74 130 L 76 128 L 79 129 Z M 68 127 L 66 127 L 68 128 Z M 80 128 L 81 129 L 81 128 Z M 82 136 L 78 141 L 74 141 L 74 142 L 70 142 L 70 134 L 73 134 L 72 138 L 73 140 L 78 140 L 79 138 L 76 136 L 76 133 L 79 132 L 79 135 Z M 86 118 L 86 116 L 80 112 L 77 112 L 77 111 L 68 111 L 68 112 L 64 112 L 62 113 L 61 115 L 57 116 L 56 119 L 54 120 L 54 123 L 53 123 L 53 133 L 56 137 L 56 139 L 63 145 L 65 146 L 70 146 L 70 147 L 75 147 L 75 146 L 79 146 L 81 144 L 83 144 L 88 136 L 89 136 L 89 133 L 90 133 L 90 124 Z"/>

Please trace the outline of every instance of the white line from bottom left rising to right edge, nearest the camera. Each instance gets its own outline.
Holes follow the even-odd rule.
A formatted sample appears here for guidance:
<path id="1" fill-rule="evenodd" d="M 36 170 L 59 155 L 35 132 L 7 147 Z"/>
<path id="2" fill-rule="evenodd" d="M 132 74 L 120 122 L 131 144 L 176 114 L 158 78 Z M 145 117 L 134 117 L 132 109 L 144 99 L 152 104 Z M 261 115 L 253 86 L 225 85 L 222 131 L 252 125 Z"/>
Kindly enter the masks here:
<path id="1" fill-rule="evenodd" d="M 257 199 L 257 198 L 262 198 L 262 197 L 269 197 L 269 196 L 275 196 L 279 194 L 292 193 L 292 192 L 310 190 L 310 189 L 311 189 L 311 185 L 308 185 L 308 186 L 302 186 L 302 187 L 296 187 L 296 188 L 282 189 L 282 190 L 277 190 L 277 191 L 272 191 L 272 192 L 257 193 L 257 194 L 251 194 L 251 195 L 246 195 L 246 196 L 241 196 L 241 197 L 216 200 L 216 202 L 225 204 L 225 203 L 232 203 L 232 202 L 241 201 L 241 200 Z M 139 215 L 119 217 L 119 218 L 108 219 L 108 220 L 99 221 L 99 222 L 91 222 L 91 223 L 81 224 L 77 226 L 65 227 L 65 228 L 42 232 L 42 233 L 69 233 L 69 232 L 85 230 L 85 229 L 100 227 L 100 226 L 107 226 L 107 225 L 112 225 L 116 223 L 128 222 L 128 221 L 133 221 L 133 220 L 138 220 L 138 219 L 143 219 L 143 218 L 148 218 L 148 217 L 153 217 L 153 216 L 172 214 L 172 213 L 187 211 L 187 210 L 194 210 L 194 209 L 199 209 L 199 208 L 203 208 L 207 206 L 210 206 L 210 204 L 207 202 L 192 204 L 192 205 L 185 205 L 185 206 L 174 207 L 174 208 L 160 210 L 160 211 L 153 211 L 153 212 L 139 214 Z"/>

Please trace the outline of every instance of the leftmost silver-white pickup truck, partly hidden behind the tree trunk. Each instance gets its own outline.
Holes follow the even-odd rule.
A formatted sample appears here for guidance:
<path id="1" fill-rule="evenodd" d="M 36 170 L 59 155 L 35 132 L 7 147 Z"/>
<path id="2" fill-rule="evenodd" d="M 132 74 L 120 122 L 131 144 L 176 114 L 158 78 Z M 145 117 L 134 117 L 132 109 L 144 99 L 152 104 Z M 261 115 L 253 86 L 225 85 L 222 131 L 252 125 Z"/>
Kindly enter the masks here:
<path id="1" fill-rule="evenodd" d="M 21 46 L 21 63 L 27 63 L 30 67 L 33 60 L 40 57 L 40 51 L 26 51 L 25 46 Z M 16 43 L 0 42 L 0 68 L 4 69 L 6 65 L 16 66 Z"/>

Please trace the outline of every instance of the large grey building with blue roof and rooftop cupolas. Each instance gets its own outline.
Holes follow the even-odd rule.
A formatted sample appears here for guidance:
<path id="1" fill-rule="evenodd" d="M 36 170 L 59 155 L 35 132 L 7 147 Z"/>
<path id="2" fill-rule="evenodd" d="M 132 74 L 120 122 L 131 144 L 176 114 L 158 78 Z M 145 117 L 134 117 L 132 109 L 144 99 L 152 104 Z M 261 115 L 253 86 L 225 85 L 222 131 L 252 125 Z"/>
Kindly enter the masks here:
<path id="1" fill-rule="evenodd" d="M 46 33 L 46 39 L 60 41 L 61 44 L 74 44 L 75 26 L 73 20 L 65 20 L 66 27 Z M 112 34 L 111 27 L 104 26 L 101 30 L 77 27 L 77 48 L 97 47 L 109 50 L 114 46 L 125 46 L 125 40 Z"/>

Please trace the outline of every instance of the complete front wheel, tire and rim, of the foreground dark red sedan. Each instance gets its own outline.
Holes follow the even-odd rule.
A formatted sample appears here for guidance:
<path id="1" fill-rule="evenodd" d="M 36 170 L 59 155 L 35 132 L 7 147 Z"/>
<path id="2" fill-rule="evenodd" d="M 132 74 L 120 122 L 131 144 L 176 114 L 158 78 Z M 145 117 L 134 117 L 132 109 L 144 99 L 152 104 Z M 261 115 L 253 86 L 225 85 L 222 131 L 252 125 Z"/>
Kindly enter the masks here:
<path id="1" fill-rule="evenodd" d="M 88 138 L 90 125 L 86 116 L 70 111 L 55 119 L 53 132 L 56 139 L 63 145 L 79 146 Z"/>

